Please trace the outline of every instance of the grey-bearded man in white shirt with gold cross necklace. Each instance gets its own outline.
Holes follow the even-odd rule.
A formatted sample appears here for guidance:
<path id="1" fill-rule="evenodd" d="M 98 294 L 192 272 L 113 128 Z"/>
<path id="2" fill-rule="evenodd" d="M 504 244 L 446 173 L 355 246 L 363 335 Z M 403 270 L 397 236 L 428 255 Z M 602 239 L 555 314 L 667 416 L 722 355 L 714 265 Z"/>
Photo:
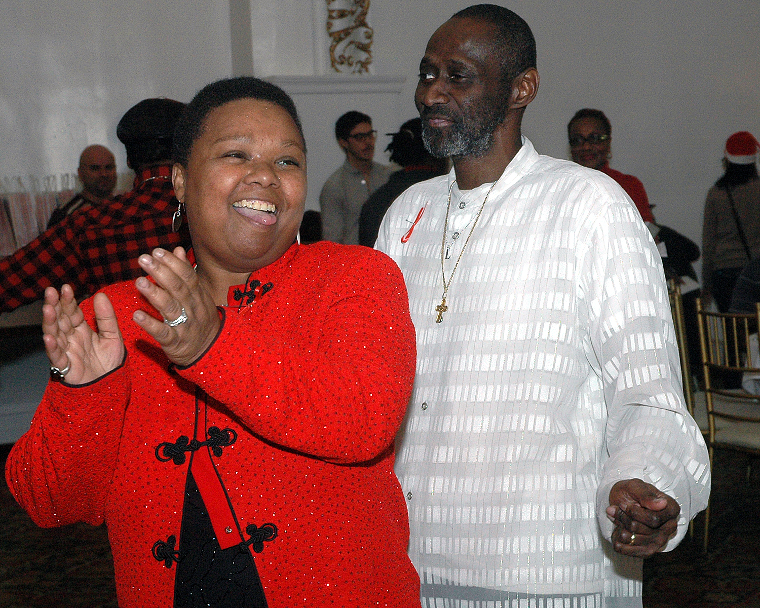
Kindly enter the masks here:
<path id="1" fill-rule="evenodd" d="M 396 472 L 423 606 L 641 606 L 641 558 L 707 505 L 657 248 L 616 182 L 521 137 L 535 65 L 502 7 L 433 34 L 415 101 L 454 169 L 375 245 L 417 333 Z"/>

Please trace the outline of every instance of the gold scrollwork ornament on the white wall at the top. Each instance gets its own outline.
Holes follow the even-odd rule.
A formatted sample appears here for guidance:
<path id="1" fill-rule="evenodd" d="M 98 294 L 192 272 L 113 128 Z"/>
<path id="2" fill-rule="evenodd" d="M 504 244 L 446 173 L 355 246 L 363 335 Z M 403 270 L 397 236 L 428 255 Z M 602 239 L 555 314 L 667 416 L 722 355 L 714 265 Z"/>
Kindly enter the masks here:
<path id="1" fill-rule="evenodd" d="M 330 63 L 335 71 L 363 74 L 372 63 L 369 0 L 327 0 Z"/>

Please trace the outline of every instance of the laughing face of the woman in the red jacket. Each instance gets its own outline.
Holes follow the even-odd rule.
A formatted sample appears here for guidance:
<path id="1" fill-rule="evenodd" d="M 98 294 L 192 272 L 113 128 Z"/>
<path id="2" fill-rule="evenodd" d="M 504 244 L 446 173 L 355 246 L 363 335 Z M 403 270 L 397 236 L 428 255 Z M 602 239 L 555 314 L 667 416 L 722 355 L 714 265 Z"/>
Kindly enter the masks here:
<path id="1" fill-rule="evenodd" d="M 187 166 L 174 166 L 198 269 L 248 274 L 293 244 L 306 201 L 306 150 L 290 114 L 243 98 L 211 110 Z"/>

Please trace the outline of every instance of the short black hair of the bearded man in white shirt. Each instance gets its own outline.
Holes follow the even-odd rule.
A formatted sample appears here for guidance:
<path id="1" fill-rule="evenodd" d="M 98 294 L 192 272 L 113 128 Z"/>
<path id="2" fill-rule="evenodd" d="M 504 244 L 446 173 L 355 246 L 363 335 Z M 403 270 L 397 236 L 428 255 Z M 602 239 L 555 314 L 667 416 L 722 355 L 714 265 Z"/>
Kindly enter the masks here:
<path id="1" fill-rule="evenodd" d="M 496 28 L 493 49 L 502 64 L 502 87 L 508 87 L 528 68 L 536 67 L 536 39 L 527 22 L 514 11 L 497 5 L 473 5 L 451 18 L 485 21 Z"/>

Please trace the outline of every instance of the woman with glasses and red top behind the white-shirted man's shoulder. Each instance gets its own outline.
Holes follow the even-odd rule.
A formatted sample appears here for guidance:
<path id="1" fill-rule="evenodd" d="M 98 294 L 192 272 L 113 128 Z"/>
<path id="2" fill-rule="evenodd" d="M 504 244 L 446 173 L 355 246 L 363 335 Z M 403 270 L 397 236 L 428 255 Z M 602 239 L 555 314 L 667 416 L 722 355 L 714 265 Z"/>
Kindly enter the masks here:
<path id="1" fill-rule="evenodd" d="M 572 160 L 589 169 L 606 173 L 618 182 L 636 204 L 641 219 L 654 223 L 647 191 L 644 190 L 641 180 L 610 168 L 612 133 L 610 120 L 600 109 L 579 109 L 568 122 L 568 140 Z"/>

